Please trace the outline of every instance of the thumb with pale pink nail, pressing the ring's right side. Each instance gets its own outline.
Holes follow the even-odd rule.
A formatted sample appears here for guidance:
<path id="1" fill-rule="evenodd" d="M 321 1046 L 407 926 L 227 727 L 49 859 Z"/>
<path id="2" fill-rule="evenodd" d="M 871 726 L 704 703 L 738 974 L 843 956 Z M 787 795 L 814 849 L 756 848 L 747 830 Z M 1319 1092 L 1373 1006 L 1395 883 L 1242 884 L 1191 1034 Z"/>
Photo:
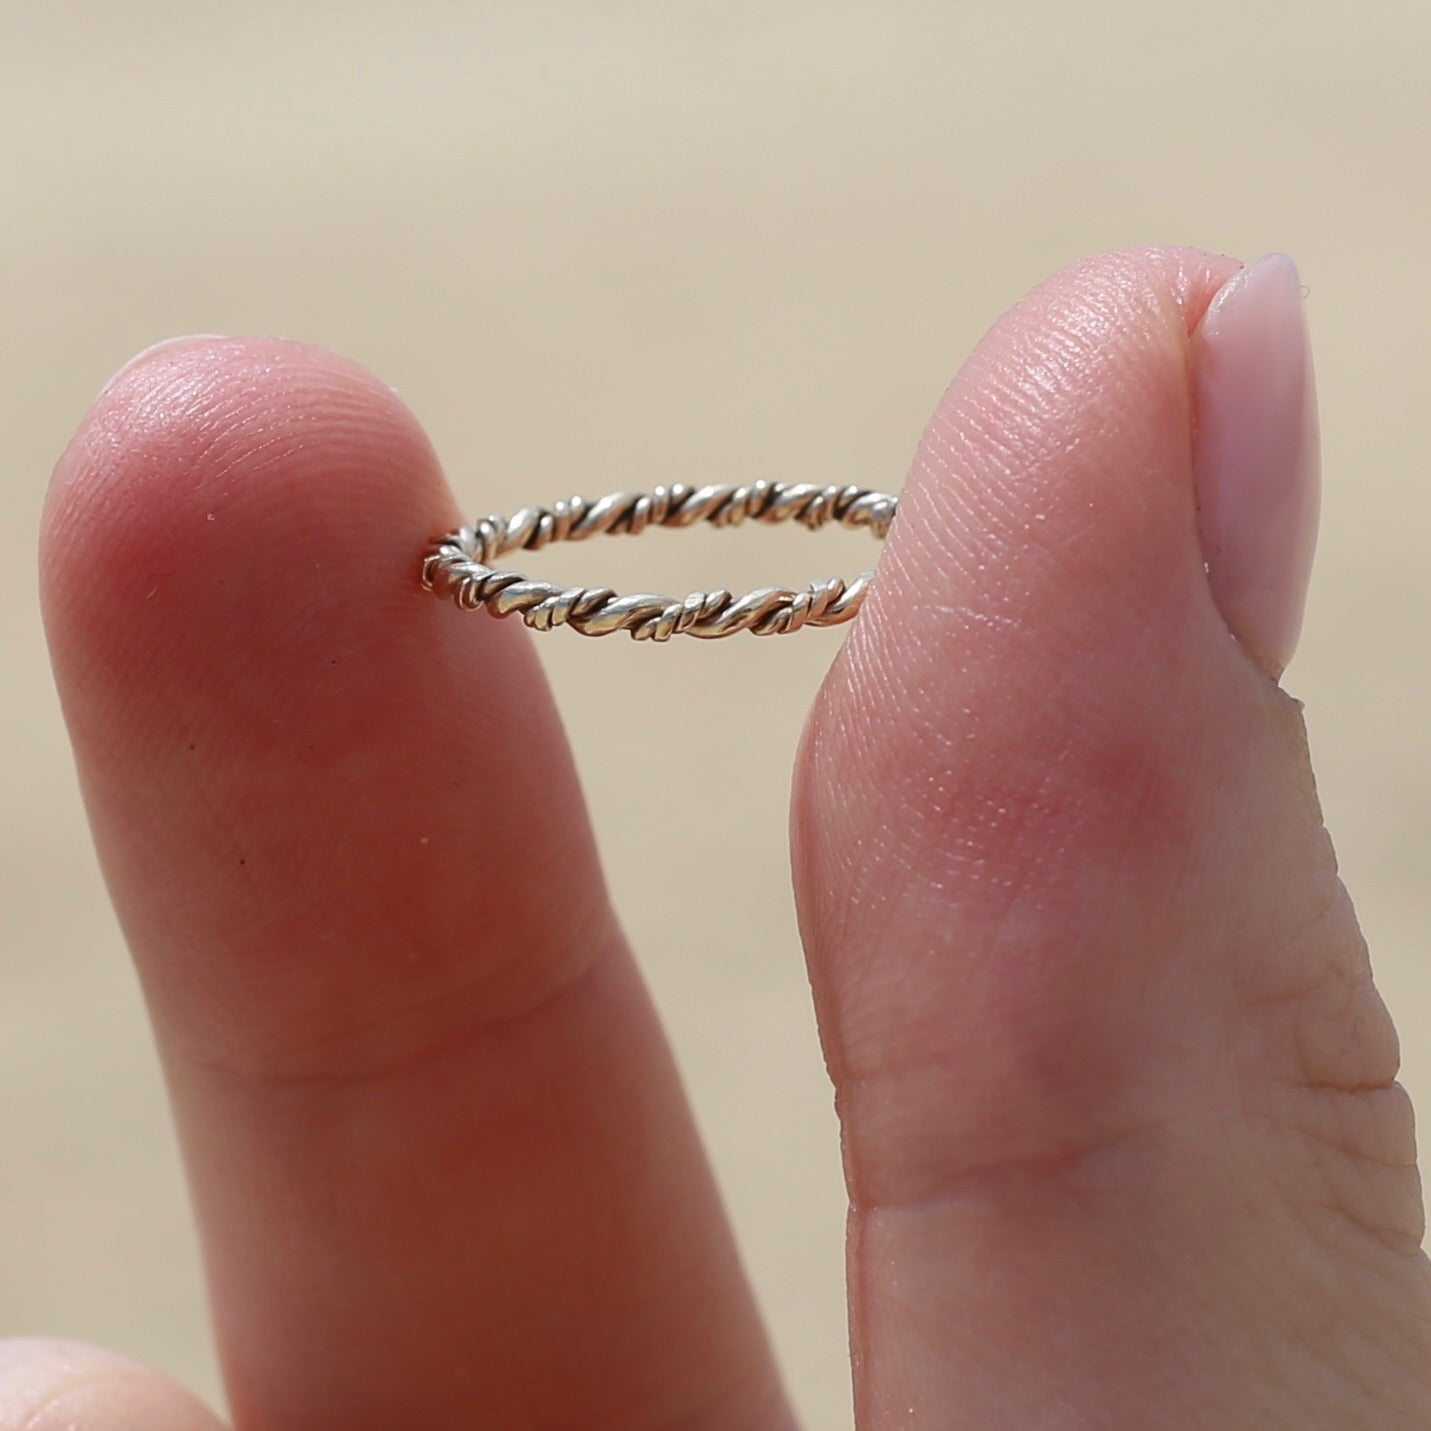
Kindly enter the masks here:
<path id="1" fill-rule="evenodd" d="M 1281 256 L 1035 290 L 816 701 L 861 1427 L 1431 1414 L 1395 1033 L 1269 677 L 1317 509 L 1301 308 Z"/>

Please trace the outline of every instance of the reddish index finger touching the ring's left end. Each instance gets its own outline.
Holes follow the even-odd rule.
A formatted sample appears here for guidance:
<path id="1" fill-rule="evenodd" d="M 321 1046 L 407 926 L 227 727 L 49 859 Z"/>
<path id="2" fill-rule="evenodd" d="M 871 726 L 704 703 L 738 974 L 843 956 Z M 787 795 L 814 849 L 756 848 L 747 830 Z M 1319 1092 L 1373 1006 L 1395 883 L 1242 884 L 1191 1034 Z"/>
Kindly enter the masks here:
<path id="1" fill-rule="evenodd" d="M 529 638 L 332 353 L 196 341 L 62 459 L 46 624 L 239 1425 L 781 1425 Z"/>

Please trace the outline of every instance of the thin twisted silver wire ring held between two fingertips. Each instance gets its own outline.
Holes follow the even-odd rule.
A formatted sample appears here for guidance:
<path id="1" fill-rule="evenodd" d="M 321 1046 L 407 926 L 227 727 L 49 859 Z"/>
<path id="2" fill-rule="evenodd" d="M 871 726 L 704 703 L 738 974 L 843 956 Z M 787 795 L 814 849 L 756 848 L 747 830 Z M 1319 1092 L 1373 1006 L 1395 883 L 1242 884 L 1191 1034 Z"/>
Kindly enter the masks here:
<path id="1" fill-rule="evenodd" d="M 813 581 L 804 591 L 760 587 L 744 597 L 728 591 L 693 591 L 684 598 L 648 594 L 621 597 L 610 587 L 560 587 L 532 581 L 492 562 L 521 548 L 538 551 L 554 541 L 584 541 L 598 532 L 637 537 L 648 527 L 738 527 L 796 521 L 811 531 L 826 522 L 867 527 L 883 539 L 897 499 L 866 487 L 816 487 L 807 482 L 750 482 L 744 487 L 687 487 L 677 482 L 651 492 L 612 492 L 594 502 L 571 497 L 551 507 L 524 507 L 511 517 L 484 517 L 471 527 L 439 537 L 422 561 L 422 587 L 467 611 L 487 607 L 494 615 L 521 612 L 535 631 L 568 625 L 582 635 L 630 631 L 637 641 L 668 641 L 673 635 L 703 640 L 753 631 L 784 635 L 803 625 L 840 625 L 864 601 L 874 580 L 861 571 Z"/>

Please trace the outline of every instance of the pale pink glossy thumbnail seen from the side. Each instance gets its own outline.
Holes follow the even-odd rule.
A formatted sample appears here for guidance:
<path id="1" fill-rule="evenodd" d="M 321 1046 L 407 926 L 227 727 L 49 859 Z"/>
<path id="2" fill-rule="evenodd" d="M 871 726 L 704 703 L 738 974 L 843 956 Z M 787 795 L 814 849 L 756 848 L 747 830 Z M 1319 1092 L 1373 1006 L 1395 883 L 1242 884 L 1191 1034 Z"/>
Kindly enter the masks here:
<path id="1" fill-rule="evenodd" d="M 1213 296 L 1193 339 L 1193 392 L 1208 582 L 1232 634 L 1278 677 L 1302 630 L 1321 497 L 1302 283 L 1285 253 Z"/>

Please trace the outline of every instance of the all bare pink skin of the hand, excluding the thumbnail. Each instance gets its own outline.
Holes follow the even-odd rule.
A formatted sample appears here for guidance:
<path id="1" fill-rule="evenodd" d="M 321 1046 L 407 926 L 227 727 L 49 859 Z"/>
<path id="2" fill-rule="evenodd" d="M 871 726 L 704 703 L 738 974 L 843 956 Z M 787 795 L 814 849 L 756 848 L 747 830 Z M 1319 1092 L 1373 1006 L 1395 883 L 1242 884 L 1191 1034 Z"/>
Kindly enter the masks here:
<path id="1" fill-rule="evenodd" d="M 1189 335 L 1235 269 L 1106 255 L 1000 321 L 809 718 L 861 1431 L 1431 1427 L 1395 1033 L 1196 541 Z M 534 638 L 415 590 L 458 517 L 389 389 L 270 341 L 142 358 L 49 497 L 233 1422 L 787 1431 Z M 0 1357 L 3 1428 L 137 1424 L 216 1422 Z"/>

